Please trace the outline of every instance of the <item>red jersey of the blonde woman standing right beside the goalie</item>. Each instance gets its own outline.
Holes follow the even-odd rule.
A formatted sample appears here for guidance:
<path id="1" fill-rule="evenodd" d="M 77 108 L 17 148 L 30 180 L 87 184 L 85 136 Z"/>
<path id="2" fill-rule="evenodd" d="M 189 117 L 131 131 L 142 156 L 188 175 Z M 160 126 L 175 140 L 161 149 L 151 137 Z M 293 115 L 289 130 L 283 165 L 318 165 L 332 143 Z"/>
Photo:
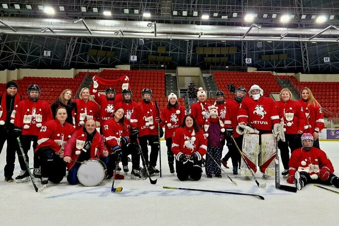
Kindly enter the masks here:
<path id="1" fill-rule="evenodd" d="M 285 134 L 298 134 L 298 131 L 307 129 L 307 121 L 299 102 L 288 100 L 276 101 L 279 117 L 284 122 Z"/>

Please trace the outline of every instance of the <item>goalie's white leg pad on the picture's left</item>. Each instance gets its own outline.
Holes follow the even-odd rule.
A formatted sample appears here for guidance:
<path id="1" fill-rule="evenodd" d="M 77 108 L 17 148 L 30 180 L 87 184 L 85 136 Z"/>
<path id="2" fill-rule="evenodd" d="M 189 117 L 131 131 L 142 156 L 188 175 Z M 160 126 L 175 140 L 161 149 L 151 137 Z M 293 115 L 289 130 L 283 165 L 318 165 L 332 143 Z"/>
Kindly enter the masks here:
<path id="1" fill-rule="evenodd" d="M 257 159 L 259 153 L 259 134 L 256 133 L 245 133 L 243 139 L 242 152 L 245 156 L 248 166 L 255 173 L 257 171 Z M 252 176 L 248 170 L 244 159 L 241 158 L 240 175 Z"/>

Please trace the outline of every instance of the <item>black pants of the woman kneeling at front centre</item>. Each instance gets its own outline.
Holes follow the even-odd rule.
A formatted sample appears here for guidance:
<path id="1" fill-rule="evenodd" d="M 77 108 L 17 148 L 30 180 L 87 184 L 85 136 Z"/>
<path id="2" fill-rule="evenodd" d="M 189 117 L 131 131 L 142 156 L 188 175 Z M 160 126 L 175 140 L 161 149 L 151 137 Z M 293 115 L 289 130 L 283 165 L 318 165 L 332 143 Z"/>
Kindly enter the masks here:
<path id="1" fill-rule="evenodd" d="M 202 175 L 201 164 L 201 161 L 196 161 L 194 163 L 187 161 L 185 164 L 176 161 L 176 172 L 178 178 L 181 181 L 187 180 L 188 177 L 193 180 L 199 180 Z"/>

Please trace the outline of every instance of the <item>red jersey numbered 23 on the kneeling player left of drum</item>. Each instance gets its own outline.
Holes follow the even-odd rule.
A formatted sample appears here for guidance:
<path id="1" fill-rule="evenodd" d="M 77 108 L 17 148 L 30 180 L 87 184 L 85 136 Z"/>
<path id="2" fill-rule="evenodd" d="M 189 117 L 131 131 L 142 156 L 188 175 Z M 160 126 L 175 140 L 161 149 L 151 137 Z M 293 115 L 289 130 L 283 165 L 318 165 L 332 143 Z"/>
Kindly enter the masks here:
<path id="1" fill-rule="evenodd" d="M 47 121 L 40 128 L 38 145 L 34 151 L 42 147 L 49 147 L 55 152 L 63 150 L 74 131 L 74 127 L 67 122 L 61 125 L 56 119 Z"/>

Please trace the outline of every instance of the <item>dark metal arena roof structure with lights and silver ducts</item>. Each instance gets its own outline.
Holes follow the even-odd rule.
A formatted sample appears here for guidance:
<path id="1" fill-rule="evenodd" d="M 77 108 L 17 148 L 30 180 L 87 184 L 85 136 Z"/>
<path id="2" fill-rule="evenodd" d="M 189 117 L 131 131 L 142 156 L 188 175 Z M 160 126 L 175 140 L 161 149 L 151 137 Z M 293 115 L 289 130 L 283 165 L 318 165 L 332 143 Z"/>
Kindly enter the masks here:
<path id="1" fill-rule="evenodd" d="M 55 12 L 46 14 L 48 7 Z M 246 22 L 248 15 L 252 20 Z M 289 21 L 282 22 L 283 16 Z M 338 27 L 334 0 L 7 1 L 0 5 L 0 69 L 151 64 L 339 73 Z M 197 53 L 197 47 L 237 51 Z M 161 60 L 150 61 L 150 55 Z M 211 60 L 218 58 L 224 60 Z"/>

